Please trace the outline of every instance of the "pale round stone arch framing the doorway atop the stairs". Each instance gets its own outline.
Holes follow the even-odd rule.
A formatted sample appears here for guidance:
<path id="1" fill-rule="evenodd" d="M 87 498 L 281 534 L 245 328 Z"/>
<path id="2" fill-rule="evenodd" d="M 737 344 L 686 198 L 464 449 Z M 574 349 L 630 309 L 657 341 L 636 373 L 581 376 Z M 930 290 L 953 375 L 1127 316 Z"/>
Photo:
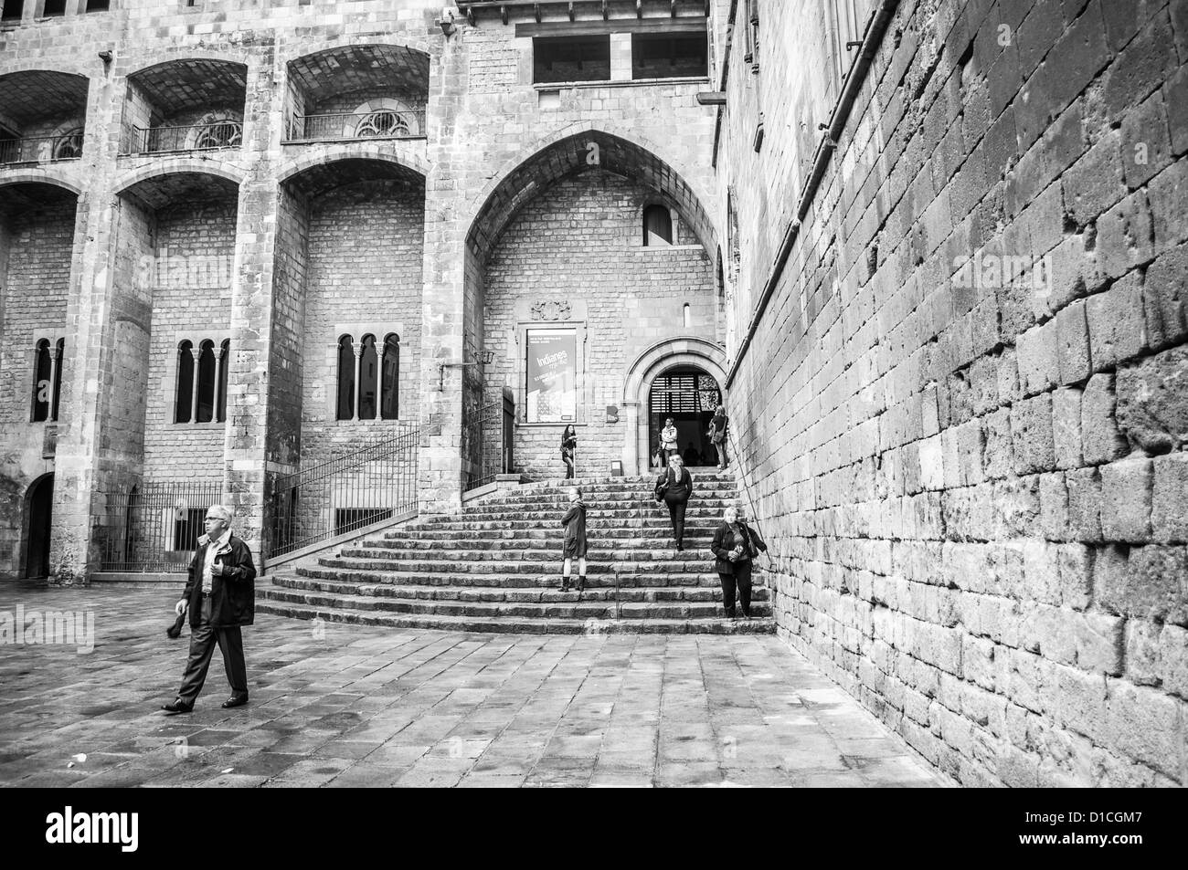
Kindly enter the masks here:
<path id="1" fill-rule="evenodd" d="M 652 381 L 674 368 L 695 366 L 718 381 L 726 399 L 726 351 L 704 338 L 669 338 L 647 348 L 627 369 L 623 386 L 626 413 L 623 468 L 628 474 L 646 474 L 651 455 L 647 444 L 647 395 Z"/>

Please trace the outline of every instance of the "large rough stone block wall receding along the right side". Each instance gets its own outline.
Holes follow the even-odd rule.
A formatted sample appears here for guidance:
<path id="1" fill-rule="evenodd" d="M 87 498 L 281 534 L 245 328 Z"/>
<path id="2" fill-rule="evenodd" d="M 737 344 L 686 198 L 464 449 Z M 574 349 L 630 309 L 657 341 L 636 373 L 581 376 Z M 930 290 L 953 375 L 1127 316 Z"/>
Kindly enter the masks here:
<path id="1" fill-rule="evenodd" d="M 967 785 L 1184 785 L 1188 4 L 897 4 L 778 265 L 830 63 L 760 44 L 729 395 L 781 635 Z"/>

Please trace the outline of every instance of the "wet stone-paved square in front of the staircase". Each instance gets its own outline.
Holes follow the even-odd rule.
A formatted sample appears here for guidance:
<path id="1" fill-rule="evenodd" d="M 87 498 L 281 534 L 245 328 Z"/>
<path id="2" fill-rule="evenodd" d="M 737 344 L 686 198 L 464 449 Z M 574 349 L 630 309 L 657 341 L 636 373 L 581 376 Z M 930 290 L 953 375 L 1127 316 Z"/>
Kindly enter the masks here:
<path id="1" fill-rule="evenodd" d="M 941 786 L 772 636 L 479 635 L 260 616 L 168 716 L 189 629 L 163 590 L 0 588 L 91 612 L 94 649 L 0 646 L 4 786 Z M 11 623 L 10 623 L 11 624 Z M 84 643 L 86 646 L 86 643 Z M 86 756 L 83 760 L 82 756 Z"/>

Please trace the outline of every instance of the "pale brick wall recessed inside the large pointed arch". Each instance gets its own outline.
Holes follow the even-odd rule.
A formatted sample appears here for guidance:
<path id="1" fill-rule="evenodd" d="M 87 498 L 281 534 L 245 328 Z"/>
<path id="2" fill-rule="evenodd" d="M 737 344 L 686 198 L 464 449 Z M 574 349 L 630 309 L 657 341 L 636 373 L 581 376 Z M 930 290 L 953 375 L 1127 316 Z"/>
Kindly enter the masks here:
<path id="1" fill-rule="evenodd" d="M 573 306 L 565 322 L 584 324 L 577 436 L 587 472 L 606 474 L 612 461 L 623 458 L 626 423 L 623 417 L 607 423 L 606 406 L 621 404 L 627 368 L 636 358 L 664 338 L 716 337 L 713 268 L 704 249 L 643 245 L 643 207 L 656 201 L 647 189 L 601 171 L 560 182 L 512 220 L 487 263 L 484 347 L 494 351 L 495 361 L 486 370 L 486 401 L 497 400 L 503 386 L 511 387 L 520 424 L 525 351 L 517 345 L 519 326 L 550 325 L 531 320 L 527 306 L 564 299 Z M 674 229 L 677 240 L 691 239 L 683 223 Z M 691 306 L 690 329 L 683 320 L 685 303 Z M 557 475 L 562 426 L 518 425 L 517 468 Z"/>

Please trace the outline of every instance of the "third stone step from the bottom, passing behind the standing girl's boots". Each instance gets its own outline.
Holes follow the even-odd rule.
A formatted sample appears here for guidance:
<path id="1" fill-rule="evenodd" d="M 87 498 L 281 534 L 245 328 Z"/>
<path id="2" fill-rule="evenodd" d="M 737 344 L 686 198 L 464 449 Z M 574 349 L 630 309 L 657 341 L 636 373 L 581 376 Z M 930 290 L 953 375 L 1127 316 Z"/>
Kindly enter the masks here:
<path id="1" fill-rule="evenodd" d="M 328 557 L 329 558 L 329 557 Z M 587 565 L 587 570 L 590 566 Z M 489 569 L 489 566 L 488 566 Z M 324 580 L 341 580 L 345 583 L 384 583 L 392 585 L 418 585 L 418 586 L 481 586 L 486 589 L 543 589 L 556 586 L 561 582 L 558 566 L 554 566 L 551 572 L 537 571 L 535 573 L 511 574 L 505 572 L 475 571 L 475 572 L 447 572 L 447 571 L 381 571 L 369 569 L 347 569 L 335 565 L 298 565 L 293 569 L 301 577 Z M 760 577 L 756 576 L 756 583 Z M 623 586 L 663 589 L 675 586 L 708 586 L 718 589 L 720 580 L 716 573 L 703 572 L 670 572 L 670 573 L 637 573 L 637 572 L 604 572 L 588 571 L 586 577 L 589 586 L 606 586 L 613 589 L 615 583 Z"/>

